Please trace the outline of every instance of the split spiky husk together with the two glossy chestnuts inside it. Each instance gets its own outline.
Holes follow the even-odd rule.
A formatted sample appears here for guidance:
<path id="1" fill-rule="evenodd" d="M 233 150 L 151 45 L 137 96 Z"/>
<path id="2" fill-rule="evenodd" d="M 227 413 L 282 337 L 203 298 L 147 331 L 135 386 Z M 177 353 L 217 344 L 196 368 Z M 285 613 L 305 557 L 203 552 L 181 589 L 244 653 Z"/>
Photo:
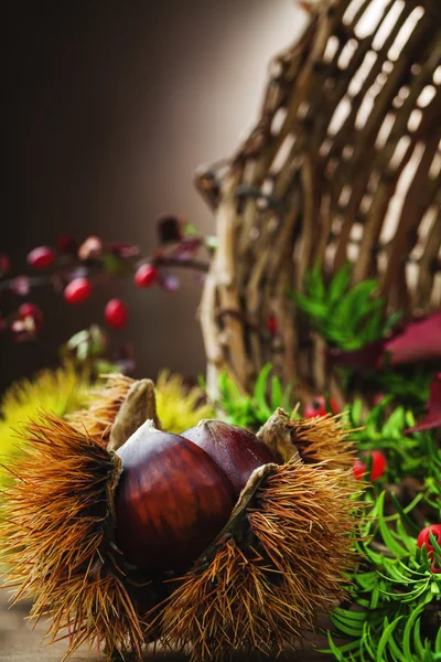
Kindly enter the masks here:
<path id="1" fill-rule="evenodd" d="M 151 641 L 198 662 L 295 647 L 357 563 L 341 419 L 160 428 L 153 383 L 115 375 L 71 421 L 25 425 L 0 517 L 15 599 L 52 617 L 52 640 L 67 632 L 66 656 L 96 642 L 140 661 Z"/>

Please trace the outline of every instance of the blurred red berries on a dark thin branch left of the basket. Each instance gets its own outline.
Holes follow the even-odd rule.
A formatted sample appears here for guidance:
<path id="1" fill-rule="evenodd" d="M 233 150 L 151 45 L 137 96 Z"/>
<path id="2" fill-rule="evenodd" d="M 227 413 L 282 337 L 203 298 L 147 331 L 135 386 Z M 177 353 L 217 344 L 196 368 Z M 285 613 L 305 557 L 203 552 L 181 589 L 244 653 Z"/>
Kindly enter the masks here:
<path id="1" fill-rule="evenodd" d="M 198 261 L 196 254 L 208 244 L 192 225 L 174 216 L 163 216 L 158 221 L 158 234 L 159 246 L 148 257 L 130 244 L 106 246 L 99 237 L 89 236 L 78 245 L 73 237 L 62 236 L 56 247 L 39 246 L 31 250 L 26 257 L 31 274 L 13 278 L 9 277 L 9 257 L 0 255 L 0 291 L 28 298 L 39 287 L 51 287 L 63 295 L 66 303 L 77 306 L 109 279 L 131 277 L 141 289 L 159 285 L 166 291 L 175 291 L 179 279 L 169 271 L 171 268 L 190 268 L 202 274 L 207 270 L 207 264 Z M 105 307 L 104 318 L 109 327 L 122 329 L 129 309 L 123 301 L 112 298 Z M 6 316 L 0 312 L 0 330 L 9 330 L 17 342 L 34 340 L 42 325 L 42 310 L 31 301 L 12 306 Z"/>

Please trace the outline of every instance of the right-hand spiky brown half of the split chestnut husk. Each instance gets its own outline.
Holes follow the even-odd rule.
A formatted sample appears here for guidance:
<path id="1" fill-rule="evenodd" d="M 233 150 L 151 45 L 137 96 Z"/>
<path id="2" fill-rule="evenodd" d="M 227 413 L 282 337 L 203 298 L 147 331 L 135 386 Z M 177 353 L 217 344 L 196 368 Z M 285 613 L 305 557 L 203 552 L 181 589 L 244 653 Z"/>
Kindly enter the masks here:
<path id="1" fill-rule="evenodd" d="M 295 647 L 345 595 L 358 526 L 346 472 L 298 458 L 268 467 L 241 521 L 233 515 L 165 607 L 164 641 L 193 660 Z"/>

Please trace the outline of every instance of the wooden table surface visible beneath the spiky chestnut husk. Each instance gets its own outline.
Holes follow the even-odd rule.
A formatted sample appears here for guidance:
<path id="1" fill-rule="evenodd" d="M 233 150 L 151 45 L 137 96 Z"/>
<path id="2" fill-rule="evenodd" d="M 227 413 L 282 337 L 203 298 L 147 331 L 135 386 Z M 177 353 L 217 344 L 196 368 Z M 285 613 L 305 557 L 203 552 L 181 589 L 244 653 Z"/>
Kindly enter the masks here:
<path id="1" fill-rule="evenodd" d="M 8 662 L 61 662 L 66 652 L 66 643 L 57 642 L 51 647 L 41 643 L 42 637 L 45 633 L 45 623 L 41 622 L 32 630 L 26 623 L 28 616 L 26 604 L 15 605 L 12 608 L 8 606 L 9 594 L 7 589 L 0 590 L 0 661 Z M 87 650 L 80 650 L 71 662 L 103 662 L 103 658 L 90 654 Z M 153 660 L 153 656 L 147 654 L 144 660 Z M 189 658 L 180 654 L 163 654 L 157 653 L 154 660 L 160 662 L 187 662 Z M 275 660 L 265 656 L 246 656 L 237 658 L 240 662 L 261 662 L 262 660 Z M 302 651 L 298 653 L 286 653 L 278 658 L 280 662 L 326 662 L 331 660 L 325 655 L 314 653 L 313 651 Z"/>

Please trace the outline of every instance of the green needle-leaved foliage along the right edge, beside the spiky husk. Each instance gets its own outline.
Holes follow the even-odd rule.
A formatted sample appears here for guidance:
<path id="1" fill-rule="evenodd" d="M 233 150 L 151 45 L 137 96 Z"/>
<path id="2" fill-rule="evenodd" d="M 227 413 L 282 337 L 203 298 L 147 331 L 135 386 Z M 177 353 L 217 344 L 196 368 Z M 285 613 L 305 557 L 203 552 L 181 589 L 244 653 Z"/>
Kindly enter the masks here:
<path id="1" fill-rule="evenodd" d="M 362 560 L 348 577 L 348 604 L 330 615 L 333 628 L 322 652 L 337 661 L 441 660 L 441 574 L 432 572 L 426 547 L 417 546 L 422 521 L 441 521 L 441 448 L 435 431 L 404 434 L 413 414 L 391 408 L 394 398 L 391 393 L 367 413 L 361 399 L 346 409 L 348 426 L 358 428 L 351 436 L 359 450 L 381 450 L 387 470 L 364 495 L 368 515 L 356 544 Z M 410 503 L 404 479 L 415 488 Z M 433 536 L 431 544 L 439 565 L 441 547 Z"/>

